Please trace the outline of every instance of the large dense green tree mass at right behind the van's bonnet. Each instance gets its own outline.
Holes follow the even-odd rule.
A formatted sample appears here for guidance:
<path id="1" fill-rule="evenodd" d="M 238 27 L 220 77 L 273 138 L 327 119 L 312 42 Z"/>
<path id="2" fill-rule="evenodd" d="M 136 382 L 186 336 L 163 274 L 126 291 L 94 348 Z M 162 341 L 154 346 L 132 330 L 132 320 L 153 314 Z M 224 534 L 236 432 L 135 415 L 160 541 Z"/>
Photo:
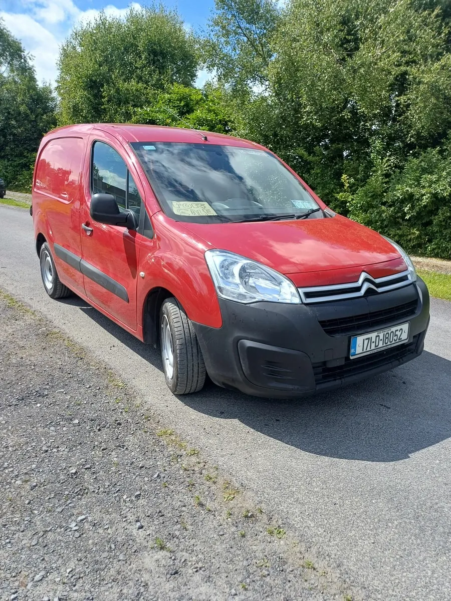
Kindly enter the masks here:
<path id="1" fill-rule="evenodd" d="M 449 2 L 291 0 L 260 34 L 265 65 L 217 26 L 235 19 L 238 0 L 217 2 L 210 36 L 267 82 L 259 91 L 257 76 L 246 80 L 248 100 L 235 104 L 239 135 L 280 154 L 345 215 L 411 251 L 450 257 L 440 231 L 451 204 Z M 255 30 L 264 27 L 262 19 Z M 218 73 L 236 87 L 233 73 Z"/>

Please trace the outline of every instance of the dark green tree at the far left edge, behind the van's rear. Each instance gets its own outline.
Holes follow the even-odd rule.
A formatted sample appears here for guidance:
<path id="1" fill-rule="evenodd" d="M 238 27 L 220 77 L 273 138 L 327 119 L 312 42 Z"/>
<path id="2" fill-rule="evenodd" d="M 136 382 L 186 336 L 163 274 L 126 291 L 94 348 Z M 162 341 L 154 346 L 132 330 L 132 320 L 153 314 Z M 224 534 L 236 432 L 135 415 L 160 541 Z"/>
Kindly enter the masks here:
<path id="1" fill-rule="evenodd" d="M 55 97 L 38 85 L 29 56 L 0 21 L 0 175 L 9 188 L 28 188 L 44 133 L 55 121 Z"/>

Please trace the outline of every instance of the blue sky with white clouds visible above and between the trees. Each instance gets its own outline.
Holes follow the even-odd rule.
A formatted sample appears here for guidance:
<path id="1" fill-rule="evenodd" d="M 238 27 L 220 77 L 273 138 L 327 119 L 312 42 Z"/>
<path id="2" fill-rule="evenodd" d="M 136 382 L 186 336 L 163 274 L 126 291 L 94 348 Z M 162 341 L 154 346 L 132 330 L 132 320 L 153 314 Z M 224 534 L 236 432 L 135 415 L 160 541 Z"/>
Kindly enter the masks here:
<path id="1" fill-rule="evenodd" d="M 0 0 L 0 18 L 12 34 L 22 41 L 25 50 L 33 56 L 39 81 L 54 84 L 58 49 L 73 25 L 93 19 L 100 10 L 108 14 L 123 15 L 127 7 L 139 7 L 145 2 L 111 0 Z M 176 8 L 186 26 L 203 28 L 214 6 L 214 0 L 165 0 L 164 4 Z M 202 85 L 207 73 L 201 72 L 198 84 Z"/>

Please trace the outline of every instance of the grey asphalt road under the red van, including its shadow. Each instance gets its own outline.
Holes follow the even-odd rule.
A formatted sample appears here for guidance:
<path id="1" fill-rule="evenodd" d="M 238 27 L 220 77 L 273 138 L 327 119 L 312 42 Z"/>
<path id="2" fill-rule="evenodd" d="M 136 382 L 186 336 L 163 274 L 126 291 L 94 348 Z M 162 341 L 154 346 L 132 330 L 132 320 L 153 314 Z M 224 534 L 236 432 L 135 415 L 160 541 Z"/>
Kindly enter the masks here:
<path id="1" fill-rule="evenodd" d="M 49 299 L 24 210 L 0 207 L 0 287 L 111 365 L 364 599 L 450 598 L 451 303 L 432 300 L 421 358 L 342 391 L 177 398 L 155 350 L 77 297 Z"/>

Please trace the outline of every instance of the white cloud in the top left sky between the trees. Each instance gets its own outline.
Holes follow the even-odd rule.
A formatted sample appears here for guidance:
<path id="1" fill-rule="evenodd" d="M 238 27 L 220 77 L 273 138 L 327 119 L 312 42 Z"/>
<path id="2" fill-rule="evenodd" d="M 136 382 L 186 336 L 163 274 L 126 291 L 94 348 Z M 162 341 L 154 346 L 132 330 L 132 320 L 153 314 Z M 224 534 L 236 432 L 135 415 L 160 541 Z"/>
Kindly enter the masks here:
<path id="1" fill-rule="evenodd" d="M 141 5 L 131 2 L 129 7 L 138 10 Z M 123 18 L 129 7 L 117 8 L 109 4 L 103 10 L 109 16 Z M 54 85 L 60 44 L 74 25 L 88 23 L 99 14 L 99 10 L 80 10 L 73 0 L 18 0 L 14 13 L 0 11 L 0 18 L 32 54 L 38 81 Z"/>

